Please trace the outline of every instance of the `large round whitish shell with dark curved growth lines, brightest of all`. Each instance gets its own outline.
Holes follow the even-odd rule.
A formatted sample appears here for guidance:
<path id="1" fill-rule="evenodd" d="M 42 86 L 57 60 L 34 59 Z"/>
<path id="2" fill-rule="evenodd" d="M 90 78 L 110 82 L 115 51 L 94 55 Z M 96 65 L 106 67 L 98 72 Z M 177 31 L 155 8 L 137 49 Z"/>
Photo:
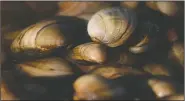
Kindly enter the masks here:
<path id="1" fill-rule="evenodd" d="M 112 7 L 95 13 L 87 30 L 93 41 L 117 47 L 127 41 L 135 27 L 136 15 L 132 10 Z"/>

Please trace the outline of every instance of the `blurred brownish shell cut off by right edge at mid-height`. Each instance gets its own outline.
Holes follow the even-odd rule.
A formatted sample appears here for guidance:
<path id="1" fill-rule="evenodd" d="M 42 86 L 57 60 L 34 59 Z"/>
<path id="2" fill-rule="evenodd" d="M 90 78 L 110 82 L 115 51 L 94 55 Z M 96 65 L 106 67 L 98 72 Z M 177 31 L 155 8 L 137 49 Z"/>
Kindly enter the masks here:
<path id="1" fill-rule="evenodd" d="M 184 44 L 175 42 L 169 52 L 169 59 L 184 67 Z"/>

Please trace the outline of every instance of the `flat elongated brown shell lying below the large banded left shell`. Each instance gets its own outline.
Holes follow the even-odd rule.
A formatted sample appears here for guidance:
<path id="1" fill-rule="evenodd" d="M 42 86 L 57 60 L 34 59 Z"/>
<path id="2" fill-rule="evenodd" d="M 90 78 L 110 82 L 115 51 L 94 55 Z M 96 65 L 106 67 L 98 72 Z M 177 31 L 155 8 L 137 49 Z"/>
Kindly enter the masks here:
<path id="1" fill-rule="evenodd" d="M 67 61 L 56 57 L 17 64 L 16 68 L 31 77 L 60 77 L 74 74 Z"/>

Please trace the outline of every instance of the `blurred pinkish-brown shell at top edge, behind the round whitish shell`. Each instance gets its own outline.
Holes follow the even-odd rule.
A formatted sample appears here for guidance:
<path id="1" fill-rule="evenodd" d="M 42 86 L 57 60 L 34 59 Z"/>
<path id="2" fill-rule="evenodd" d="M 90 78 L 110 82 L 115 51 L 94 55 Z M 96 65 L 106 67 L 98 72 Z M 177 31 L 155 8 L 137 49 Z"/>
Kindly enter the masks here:
<path id="1" fill-rule="evenodd" d="M 58 2 L 59 11 L 57 15 L 76 16 L 85 20 L 89 20 L 97 11 L 110 7 L 107 2 Z"/>

